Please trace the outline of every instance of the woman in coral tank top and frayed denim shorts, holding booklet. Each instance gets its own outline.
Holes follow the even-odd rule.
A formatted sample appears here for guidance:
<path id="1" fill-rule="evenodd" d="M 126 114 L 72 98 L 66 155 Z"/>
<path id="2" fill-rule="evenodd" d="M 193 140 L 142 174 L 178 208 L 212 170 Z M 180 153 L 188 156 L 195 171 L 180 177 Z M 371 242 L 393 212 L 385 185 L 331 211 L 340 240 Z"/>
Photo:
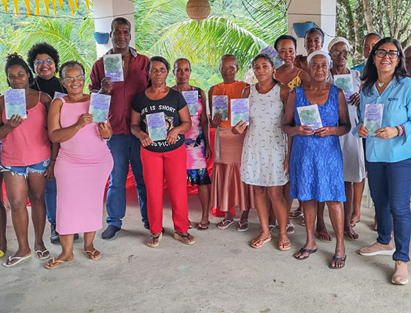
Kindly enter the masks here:
<path id="1" fill-rule="evenodd" d="M 12 210 L 18 249 L 3 265 L 12 267 L 32 256 L 27 239 L 27 196 L 32 204 L 36 257 L 45 260 L 50 256 L 42 235 L 46 221 L 45 172 L 51 156 L 47 136 L 47 111 L 51 98 L 29 87 L 33 74 L 16 53 L 8 55 L 5 72 L 12 89 L 0 97 L 0 138 L 3 145 L 0 170 Z"/>

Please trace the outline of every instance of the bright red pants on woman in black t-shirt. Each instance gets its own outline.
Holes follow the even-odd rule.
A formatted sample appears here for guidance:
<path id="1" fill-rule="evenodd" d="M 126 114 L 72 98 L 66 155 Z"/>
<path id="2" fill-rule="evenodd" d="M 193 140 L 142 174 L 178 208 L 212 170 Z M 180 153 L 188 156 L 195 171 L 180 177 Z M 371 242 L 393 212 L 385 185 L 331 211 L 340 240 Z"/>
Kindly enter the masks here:
<path id="1" fill-rule="evenodd" d="M 170 152 L 141 148 L 142 175 L 147 189 L 147 215 L 151 234 L 162 230 L 164 178 L 171 198 L 176 232 L 188 230 L 187 166 L 184 144 Z"/>

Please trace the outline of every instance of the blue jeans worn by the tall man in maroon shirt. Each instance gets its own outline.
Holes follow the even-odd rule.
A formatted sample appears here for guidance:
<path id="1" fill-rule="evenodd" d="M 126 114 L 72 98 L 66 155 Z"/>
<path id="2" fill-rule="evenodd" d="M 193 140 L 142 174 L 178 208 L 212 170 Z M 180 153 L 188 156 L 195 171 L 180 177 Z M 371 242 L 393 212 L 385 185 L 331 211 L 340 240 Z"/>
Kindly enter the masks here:
<path id="1" fill-rule="evenodd" d="M 125 216 L 125 181 L 129 164 L 132 165 L 136 181 L 141 220 L 143 223 L 149 223 L 149 219 L 147 219 L 147 191 L 142 178 L 140 160 L 140 140 L 133 135 L 113 135 L 107 144 L 114 159 L 107 192 L 107 223 L 121 228 L 121 219 Z"/>

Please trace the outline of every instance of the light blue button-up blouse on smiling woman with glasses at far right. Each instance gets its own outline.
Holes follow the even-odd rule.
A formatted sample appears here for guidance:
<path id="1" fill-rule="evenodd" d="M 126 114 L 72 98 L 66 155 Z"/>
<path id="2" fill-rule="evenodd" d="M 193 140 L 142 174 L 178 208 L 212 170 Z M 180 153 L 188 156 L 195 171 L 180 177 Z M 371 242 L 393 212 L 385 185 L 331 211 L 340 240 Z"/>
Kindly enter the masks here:
<path id="1" fill-rule="evenodd" d="M 379 94 L 375 84 L 370 94 L 361 92 L 360 123 L 353 128 L 352 133 L 358 136 L 357 128 L 364 120 L 365 105 L 370 103 L 384 103 L 382 127 L 403 125 L 405 135 L 390 139 L 381 139 L 375 136 L 366 138 L 366 160 L 369 162 L 398 162 L 411 158 L 411 78 L 403 77 L 398 82 L 393 79 Z"/>

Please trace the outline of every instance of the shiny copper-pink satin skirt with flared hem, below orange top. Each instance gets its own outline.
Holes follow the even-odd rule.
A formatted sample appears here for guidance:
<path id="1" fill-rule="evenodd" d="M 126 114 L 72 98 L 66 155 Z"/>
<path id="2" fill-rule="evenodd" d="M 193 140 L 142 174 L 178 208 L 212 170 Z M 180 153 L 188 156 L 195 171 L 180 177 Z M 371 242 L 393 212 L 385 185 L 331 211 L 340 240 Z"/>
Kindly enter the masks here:
<path id="1" fill-rule="evenodd" d="M 252 187 L 240 180 L 244 137 L 245 134 L 234 135 L 231 128 L 219 130 L 220 159 L 218 163 L 214 163 L 211 183 L 211 206 L 214 210 L 216 208 L 223 212 L 231 210 L 234 215 L 235 206 L 240 210 L 253 207 Z"/>

